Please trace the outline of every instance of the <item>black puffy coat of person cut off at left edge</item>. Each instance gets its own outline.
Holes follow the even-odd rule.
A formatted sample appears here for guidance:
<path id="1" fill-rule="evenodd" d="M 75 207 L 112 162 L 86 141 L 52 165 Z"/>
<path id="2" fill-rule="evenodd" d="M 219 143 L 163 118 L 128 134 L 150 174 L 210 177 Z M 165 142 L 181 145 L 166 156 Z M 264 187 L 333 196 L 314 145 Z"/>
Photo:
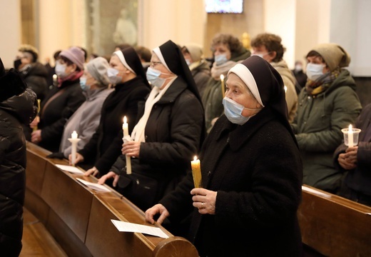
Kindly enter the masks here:
<path id="1" fill-rule="evenodd" d="M 36 94 L 26 89 L 0 102 L 0 255 L 19 256 L 26 190 L 26 140 L 21 124 L 36 116 Z"/>

